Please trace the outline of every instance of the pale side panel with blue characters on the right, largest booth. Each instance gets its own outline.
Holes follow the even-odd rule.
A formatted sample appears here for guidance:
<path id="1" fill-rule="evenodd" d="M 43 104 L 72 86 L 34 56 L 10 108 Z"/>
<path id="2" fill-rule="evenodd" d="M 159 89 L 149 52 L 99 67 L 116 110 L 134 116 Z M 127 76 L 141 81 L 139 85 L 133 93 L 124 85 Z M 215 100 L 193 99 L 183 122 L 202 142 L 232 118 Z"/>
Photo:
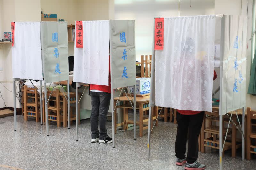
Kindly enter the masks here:
<path id="1" fill-rule="evenodd" d="M 246 50 L 247 50 L 247 16 L 224 16 L 223 60 L 221 112 L 245 107 L 246 100 Z"/>

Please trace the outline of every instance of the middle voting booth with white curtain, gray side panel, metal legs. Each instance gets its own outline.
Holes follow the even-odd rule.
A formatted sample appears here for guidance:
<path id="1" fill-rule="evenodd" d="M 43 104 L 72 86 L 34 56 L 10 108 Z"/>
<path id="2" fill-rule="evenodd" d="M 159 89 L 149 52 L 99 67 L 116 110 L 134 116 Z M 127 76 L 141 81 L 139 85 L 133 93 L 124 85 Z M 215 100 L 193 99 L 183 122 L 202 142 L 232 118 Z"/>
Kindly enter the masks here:
<path id="1" fill-rule="evenodd" d="M 109 85 L 108 75 L 111 75 L 113 147 L 115 147 L 113 113 L 116 108 L 113 106 L 114 89 L 121 88 L 121 95 L 124 87 L 136 85 L 134 24 L 134 20 L 76 21 L 73 80 L 76 82 L 76 95 L 78 87 L 83 84 Z M 134 96 L 134 104 L 132 105 L 131 101 L 130 103 L 134 108 L 136 122 L 136 95 Z M 76 117 L 78 117 L 78 103 L 76 96 Z M 134 139 L 136 139 L 136 124 L 134 124 Z M 77 123 L 76 140 L 78 141 Z"/>

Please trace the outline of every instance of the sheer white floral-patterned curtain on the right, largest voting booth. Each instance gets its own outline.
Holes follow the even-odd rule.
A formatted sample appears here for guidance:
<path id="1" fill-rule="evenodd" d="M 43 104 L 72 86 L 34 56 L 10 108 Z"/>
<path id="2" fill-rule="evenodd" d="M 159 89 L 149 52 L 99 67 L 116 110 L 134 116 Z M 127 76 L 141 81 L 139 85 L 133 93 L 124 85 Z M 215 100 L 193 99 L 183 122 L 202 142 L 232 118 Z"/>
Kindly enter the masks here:
<path id="1" fill-rule="evenodd" d="M 215 16 L 164 18 L 155 54 L 156 106 L 212 112 Z"/>

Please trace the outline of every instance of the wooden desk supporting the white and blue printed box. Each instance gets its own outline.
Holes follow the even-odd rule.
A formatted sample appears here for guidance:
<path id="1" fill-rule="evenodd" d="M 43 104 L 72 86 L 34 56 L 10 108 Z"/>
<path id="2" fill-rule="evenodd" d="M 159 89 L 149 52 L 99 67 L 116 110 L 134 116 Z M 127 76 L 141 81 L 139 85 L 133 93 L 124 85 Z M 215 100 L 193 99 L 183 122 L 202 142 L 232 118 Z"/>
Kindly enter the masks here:
<path id="1" fill-rule="evenodd" d="M 130 96 L 128 96 L 128 98 L 133 103 L 133 98 L 131 98 Z M 114 98 L 114 106 L 116 106 L 117 100 L 118 100 L 118 97 Z M 123 104 L 116 106 L 116 108 L 124 109 L 124 112 L 123 112 L 124 119 L 123 119 L 123 122 L 116 124 L 116 109 L 115 109 L 115 111 L 114 111 L 115 133 L 116 133 L 117 126 L 123 125 L 124 130 L 127 130 L 128 124 L 134 124 L 134 121 L 128 119 L 128 109 L 132 109 L 132 106 L 131 106 L 129 100 L 127 99 L 126 96 L 121 96 L 118 100 L 118 101 L 123 101 Z M 147 107 L 145 107 L 145 106 L 147 106 Z M 145 110 L 149 110 L 149 96 L 148 97 L 136 97 L 136 109 L 139 110 L 139 115 L 140 115 L 139 122 L 136 122 L 136 125 L 137 124 L 139 125 L 139 137 L 143 137 L 143 130 L 148 129 L 149 118 L 143 117 L 143 112 Z M 151 121 L 152 123 L 153 123 L 153 120 L 156 120 L 156 116 L 157 116 L 157 113 L 153 110 L 155 110 L 155 109 L 152 109 L 152 112 L 153 112 L 152 121 Z M 156 126 L 157 126 L 157 122 L 158 121 L 156 120 Z M 146 126 L 144 127 L 143 125 L 146 125 Z M 152 124 L 151 124 L 151 127 L 152 127 Z"/>

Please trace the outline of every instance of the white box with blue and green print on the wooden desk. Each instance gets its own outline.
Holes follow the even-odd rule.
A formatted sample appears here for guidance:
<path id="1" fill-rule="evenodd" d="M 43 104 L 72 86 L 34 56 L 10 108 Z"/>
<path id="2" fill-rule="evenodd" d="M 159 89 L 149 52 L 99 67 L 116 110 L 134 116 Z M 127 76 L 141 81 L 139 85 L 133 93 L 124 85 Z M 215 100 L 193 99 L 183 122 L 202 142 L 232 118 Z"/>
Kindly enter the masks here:
<path id="1" fill-rule="evenodd" d="M 128 86 L 128 93 L 133 93 L 133 86 Z M 150 93 L 150 78 L 136 78 L 136 94 Z"/>

